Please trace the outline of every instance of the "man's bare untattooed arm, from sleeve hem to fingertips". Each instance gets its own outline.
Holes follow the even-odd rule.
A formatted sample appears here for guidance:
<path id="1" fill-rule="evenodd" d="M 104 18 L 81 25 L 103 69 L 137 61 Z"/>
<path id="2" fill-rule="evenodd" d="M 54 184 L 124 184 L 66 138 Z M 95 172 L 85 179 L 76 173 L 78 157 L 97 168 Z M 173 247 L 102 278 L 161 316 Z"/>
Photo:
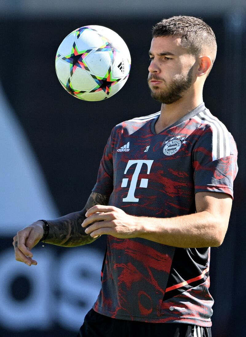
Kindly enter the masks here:
<path id="1" fill-rule="evenodd" d="M 173 218 L 136 217 L 112 206 L 94 206 L 82 226 L 92 237 L 144 238 L 173 247 L 199 248 L 221 245 L 227 230 L 232 198 L 225 193 L 198 192 L 197 213 Z M 96 213 L 104 212 L 104 213 Z M 102 222 L 95 222 L 100 221 Z"/>

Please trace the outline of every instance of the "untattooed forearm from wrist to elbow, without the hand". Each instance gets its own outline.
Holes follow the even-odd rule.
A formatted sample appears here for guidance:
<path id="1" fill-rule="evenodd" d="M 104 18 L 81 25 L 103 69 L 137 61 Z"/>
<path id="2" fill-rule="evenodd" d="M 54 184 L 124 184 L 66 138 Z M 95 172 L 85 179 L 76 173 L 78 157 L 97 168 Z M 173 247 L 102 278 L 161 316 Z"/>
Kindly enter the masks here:
<path id="1" fill-rule="evenodd" d="M 134 221 L 139 237 L 181 248 L 217 247 L 228 225 L 208 211 L 173 218 L 134 217 Z"/>

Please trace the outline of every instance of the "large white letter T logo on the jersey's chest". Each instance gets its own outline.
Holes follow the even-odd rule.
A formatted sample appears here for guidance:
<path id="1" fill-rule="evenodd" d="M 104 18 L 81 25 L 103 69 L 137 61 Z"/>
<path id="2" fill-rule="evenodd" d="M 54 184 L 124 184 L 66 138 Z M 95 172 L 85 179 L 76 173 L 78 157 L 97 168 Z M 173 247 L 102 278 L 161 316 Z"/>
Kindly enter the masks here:
<path id="1" fill-rule="evenodd" d="M 137 164 L 137 166 L 136 166 L 135 171 L 134 171 L 133 176 L 132 176 L 132 181 L 131 181 L 131 184 L 130 184 L 130 188 L 129 188 L 127 197 L 123 198 L 122 201 L 128 201 L 128 202 L 129 201 L 130 202 L 133 202 L 133 201 L 138 202 L 139 201 L 139 199 L 135 198 L 135 196 L 134 196 L 134 193 L 135 193 L 135 190 L 136 190 L 136 187 L 137 187 L 137 181 L 138 181 L 139 173 L 141 171 L 141 168 L 142 168 L 143 164 L 146 164 L 147 167 L 148 167 L 147 174 L 149 174 L 152 163 L 153 163 L 153 160 L 129 160 L 128 161 L 124 174 L 127 173 L 128 168 L 131 167 L 133 164 Z M 128 184 L 128 178 L 123 178 L 121 187 L 127 187 L 127 184 Z M 139 187 L 145 187 L 146 188 L 147 186 L 148 186 L 148 179 L 142 178 Z"/>

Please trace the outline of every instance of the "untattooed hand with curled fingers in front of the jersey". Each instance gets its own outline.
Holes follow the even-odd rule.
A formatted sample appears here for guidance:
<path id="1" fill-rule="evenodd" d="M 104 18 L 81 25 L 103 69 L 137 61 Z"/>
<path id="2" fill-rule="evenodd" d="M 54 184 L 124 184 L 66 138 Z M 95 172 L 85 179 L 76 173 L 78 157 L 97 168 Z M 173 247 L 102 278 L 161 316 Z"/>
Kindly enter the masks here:
<path id="1" fill-rule="evenodd" d="M 129 239 L 136 238 L 140 233 L 136 217 L 114 206 L 93 206 L 85 216 L 87 218 L 83 221 L 82 227 L 93 223 L 85 229 L 85 233 L 93 238 L 108 234 L 116 238 Z"/>

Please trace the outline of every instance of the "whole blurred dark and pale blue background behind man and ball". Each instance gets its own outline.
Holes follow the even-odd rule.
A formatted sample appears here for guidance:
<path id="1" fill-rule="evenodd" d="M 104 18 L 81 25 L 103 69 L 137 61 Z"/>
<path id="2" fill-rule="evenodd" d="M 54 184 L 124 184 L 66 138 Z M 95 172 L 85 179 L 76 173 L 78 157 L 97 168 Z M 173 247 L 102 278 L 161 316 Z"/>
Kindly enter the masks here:
<path id="1" fill-rule="evenodd" d="M 77 248 L 38 244 L 37 266 L 16 262 L 12 237 L 37 219 L 80 210 L 96 182 L 112 127 L 160 110 L 147 86 L 151 27 L 197 16 L 215 32 L 218 54 L 204 101 L 239 150 L 235 199 L 224 243 L 211 249 L 213 337 L 243 336 L 246 278 L 244 0 L 8 0 L 0 2 L 0 336 L 75 336 L 100 289 L 105 237 Z M 60 85 L 55 55 L 85 25 L 116 31 L 132 69 L 106 101 L 80 101 Z"/>

